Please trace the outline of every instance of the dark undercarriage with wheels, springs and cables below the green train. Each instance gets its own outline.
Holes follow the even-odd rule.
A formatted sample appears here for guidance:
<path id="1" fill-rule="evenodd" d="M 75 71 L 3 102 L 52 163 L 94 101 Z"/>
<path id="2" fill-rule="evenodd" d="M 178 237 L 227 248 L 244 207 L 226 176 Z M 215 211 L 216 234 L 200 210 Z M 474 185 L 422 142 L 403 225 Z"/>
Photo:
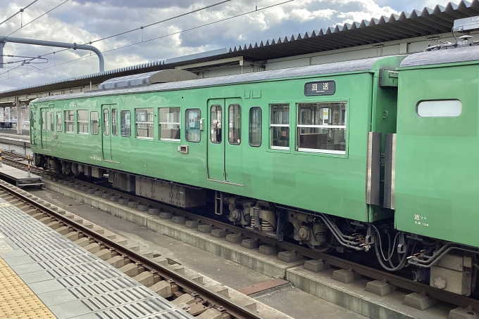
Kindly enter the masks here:
<path id="1" fill-rule="evenodd" d="M 365 263 L 371 263 L 373 254 L 375 262 L 368 266 L 395 271 L 454 294 L 478 297 L 477 247 L 404 233 L 394 229 L 393 220 L 362 223 L 44 155 L 35 155 L 35 165 L 66 176 L 108 181 L 113 188 L 185 209 L 214 203 L 211 214 L 218 219 L 261 236 L 296 242 L 322 253 L 359 252 L 350 255 L 359 260 L 363 256 L 359 262 Z"/>

